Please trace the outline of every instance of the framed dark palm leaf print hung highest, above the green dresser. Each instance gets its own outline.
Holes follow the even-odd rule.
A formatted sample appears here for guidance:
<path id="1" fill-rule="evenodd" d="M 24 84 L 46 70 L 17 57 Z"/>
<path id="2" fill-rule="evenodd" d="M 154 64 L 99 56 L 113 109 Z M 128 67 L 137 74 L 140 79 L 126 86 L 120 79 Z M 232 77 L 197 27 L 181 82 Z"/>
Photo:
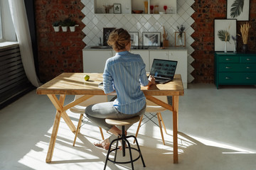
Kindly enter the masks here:
<path id="1" fill-rule="evenodd" d="M 227 0 L 227 18 L 249 21 L 250 0 Z"/>

